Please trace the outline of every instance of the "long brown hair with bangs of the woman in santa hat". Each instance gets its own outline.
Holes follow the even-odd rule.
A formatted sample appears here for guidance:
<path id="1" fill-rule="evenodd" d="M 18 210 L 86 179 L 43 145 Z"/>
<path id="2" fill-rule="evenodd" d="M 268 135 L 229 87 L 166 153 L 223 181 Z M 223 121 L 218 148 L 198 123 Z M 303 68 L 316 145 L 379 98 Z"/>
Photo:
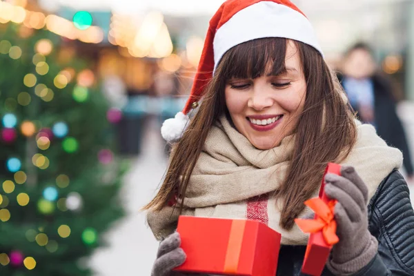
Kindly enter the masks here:
<path id="1" fill-rule="evenodd" d="M 283 200 L 280 226 L 289 230 L 304 210 L 304 201 L 319 188 L 328 162 L 346 158 L 356 141 L 354 115 L 344 101 L 337 78 L 323 57 L 299 41 L 293 41 L 306 79 L 304 110 L 295 128 L 295 146 L 284 183 L 275 191 Z M 144 210 L 161 210 L 177 196 L 184 206 L 191 173 L 204 146 L 210 127 L 227 111 L 226 81 L 263 76 L 273 62 L 272 75 L 284 72 L 288 39 L 264 38 L 231 48 L 222 57 L 215 75 L 206 87 L 199 110 L 191 119 L 180 141 L 172 147 L 170 164 L 159 192 Z"/>

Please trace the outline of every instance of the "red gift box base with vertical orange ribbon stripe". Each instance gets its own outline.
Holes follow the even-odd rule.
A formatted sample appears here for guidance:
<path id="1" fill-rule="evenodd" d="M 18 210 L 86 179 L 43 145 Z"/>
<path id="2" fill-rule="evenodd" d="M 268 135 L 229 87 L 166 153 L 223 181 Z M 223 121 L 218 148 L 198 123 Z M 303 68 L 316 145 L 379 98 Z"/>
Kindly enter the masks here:
<path id="1" fill-rule="evenodd" d="M 259 221 L 180 216 L 186 262 L 176 271 L 275 276 L 281 235 Z"/>

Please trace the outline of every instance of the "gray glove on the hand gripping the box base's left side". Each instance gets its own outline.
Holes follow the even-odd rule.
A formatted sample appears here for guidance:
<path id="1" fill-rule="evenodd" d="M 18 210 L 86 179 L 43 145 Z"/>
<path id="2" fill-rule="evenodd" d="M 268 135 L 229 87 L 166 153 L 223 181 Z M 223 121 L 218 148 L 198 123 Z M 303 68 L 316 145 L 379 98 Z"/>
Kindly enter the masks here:
<path id="1" fill-rule="evenodd" d="M 186 253 L 179 248 L 181 238 L 175 232 L 166 237 L 159 244 L 157 259 L 152 266 L 151 276 L 180 276 L 181 273 L 172 272 L 173 268 L 180 266 L 186 260 Z"/>

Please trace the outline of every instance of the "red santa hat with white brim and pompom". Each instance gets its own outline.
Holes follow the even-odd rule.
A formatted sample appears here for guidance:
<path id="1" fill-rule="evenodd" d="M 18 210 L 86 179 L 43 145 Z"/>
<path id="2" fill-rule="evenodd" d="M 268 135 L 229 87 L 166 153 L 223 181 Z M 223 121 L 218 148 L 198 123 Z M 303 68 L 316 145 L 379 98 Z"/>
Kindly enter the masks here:
<path id="1" fill-rule="evenodd" d="M 197 108 L 204 88 L 212 79 L 221 57 L 234 46 L 265 37 L 284 37 L 313 46 L 322 55 L 311 23 L 289 0 L 228 0 L 210 19 L 204 48 L 190 97 L 182 112 L 167 119 L 161 134 L 177 141 L 188 125 L 188 112 Z"/>

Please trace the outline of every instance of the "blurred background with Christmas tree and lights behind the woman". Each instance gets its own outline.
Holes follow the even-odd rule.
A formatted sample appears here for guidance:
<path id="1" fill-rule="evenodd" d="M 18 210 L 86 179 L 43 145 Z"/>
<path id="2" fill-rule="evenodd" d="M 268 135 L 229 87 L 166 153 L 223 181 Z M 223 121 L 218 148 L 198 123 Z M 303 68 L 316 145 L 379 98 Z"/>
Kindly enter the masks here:
<path id="1" fill-rule="evenodd" d="M 0 1 L 0 275 L 150 275 L 159 129 L 223 2 Z M 414 1 L 293 2 L 414 187 Z"/>

